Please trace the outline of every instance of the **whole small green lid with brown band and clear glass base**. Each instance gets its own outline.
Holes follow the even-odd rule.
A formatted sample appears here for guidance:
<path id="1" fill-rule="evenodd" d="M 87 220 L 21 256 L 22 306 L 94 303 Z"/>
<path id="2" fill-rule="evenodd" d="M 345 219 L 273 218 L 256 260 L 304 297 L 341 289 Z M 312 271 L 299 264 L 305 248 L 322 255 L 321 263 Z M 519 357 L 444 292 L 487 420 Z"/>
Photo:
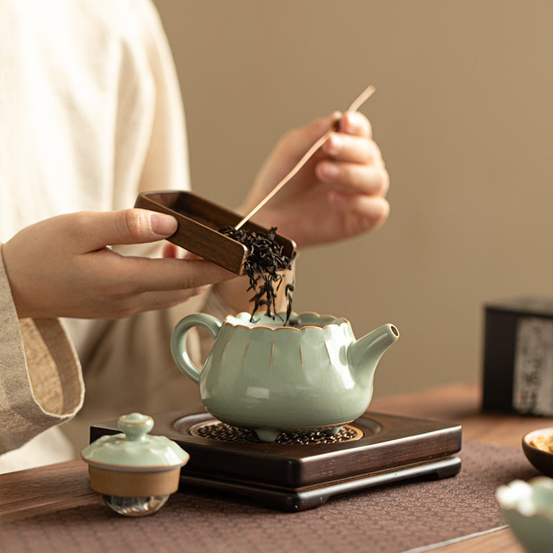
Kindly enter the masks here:
<path id="1" fill-rule="evenodd" d="M 104 435 L 81 453 L 91 488 L 119 514 L 153 514 L 177 491 L 180 467 L 190 456 L 169 438 L 149 435 L 147 415 L 122 415 L 118 427 L 122 434 Z"/>

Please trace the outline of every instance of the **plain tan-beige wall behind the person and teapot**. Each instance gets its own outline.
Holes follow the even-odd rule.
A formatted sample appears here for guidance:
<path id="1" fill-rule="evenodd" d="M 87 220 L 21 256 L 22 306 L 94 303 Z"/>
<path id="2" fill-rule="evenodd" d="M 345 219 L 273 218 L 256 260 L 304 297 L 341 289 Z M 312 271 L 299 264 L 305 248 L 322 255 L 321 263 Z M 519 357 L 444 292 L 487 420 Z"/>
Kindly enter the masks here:
<path id="1" fill-rule="evenodd" d="M 482 306 L 553 296 L 553 2 L 156 0 L 200 194 L 238 203 L 292 126 L 362 108 L 378 232 L 303 252 L 296 310 L 401 332 L 375 395 L 480 375 Z"/>

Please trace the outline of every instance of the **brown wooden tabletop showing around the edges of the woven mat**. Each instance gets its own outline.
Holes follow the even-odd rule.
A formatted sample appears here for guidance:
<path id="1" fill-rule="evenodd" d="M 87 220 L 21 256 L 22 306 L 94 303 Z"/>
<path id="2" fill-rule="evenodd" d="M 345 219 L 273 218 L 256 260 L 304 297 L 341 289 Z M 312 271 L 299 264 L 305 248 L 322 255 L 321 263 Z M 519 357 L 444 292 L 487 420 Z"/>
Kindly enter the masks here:
<path id="1" fill-rule="evenodd" d="M 372 411 L 462 424 L 463 440 L 521 447 L 525 433 L 553 425 L 553 419 L 480 412 L 477 384 L 449 384 L 371 402 Z M 507 483 L 507 482 L 505 482 Z M 88 487 L 80 460 L 0 475 L 0 521 L 32 518 L 68 507 L 102 504 Z M 436 553 L 523 553 L 510 529 L 433 549 Z"/>

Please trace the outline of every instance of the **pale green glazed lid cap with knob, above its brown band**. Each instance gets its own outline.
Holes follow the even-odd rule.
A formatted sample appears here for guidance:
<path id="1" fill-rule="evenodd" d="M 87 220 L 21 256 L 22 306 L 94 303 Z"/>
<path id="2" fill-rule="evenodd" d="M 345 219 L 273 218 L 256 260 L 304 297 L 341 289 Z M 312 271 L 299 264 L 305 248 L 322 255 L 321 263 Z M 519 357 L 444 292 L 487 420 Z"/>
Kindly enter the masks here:
<path id="1" fill-rule="evenodd" d="M 149 435 L 153 419 L 130 413 L 118 420 L 122 434 L 104 435 L 83 449 L 88 465 L 126 471 L 161 471 L 182 467 L 189 454 L 165 436 Z"/>

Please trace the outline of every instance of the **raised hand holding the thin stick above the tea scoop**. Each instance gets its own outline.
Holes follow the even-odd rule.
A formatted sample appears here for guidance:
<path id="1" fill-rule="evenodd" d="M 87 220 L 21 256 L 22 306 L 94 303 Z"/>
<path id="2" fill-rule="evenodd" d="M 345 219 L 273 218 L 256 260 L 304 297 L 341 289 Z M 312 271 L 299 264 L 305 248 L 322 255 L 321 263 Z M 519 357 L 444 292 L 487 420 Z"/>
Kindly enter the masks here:
<path id="1" fill-rule="evenodd" d="M 339 115 L 338 115 L 339 116 Z M 321 138 L 337 115 L 315 120 L 281 138 L 241 207 L 247 214 Z M 341 116 L 332 133 L 292 180 L 252 221 L 277 227 L 299 247 L 355 236 L 382 225 L 390 211 L 384 199 L 389 178 L 371 124 L 359 112 Z"/>

